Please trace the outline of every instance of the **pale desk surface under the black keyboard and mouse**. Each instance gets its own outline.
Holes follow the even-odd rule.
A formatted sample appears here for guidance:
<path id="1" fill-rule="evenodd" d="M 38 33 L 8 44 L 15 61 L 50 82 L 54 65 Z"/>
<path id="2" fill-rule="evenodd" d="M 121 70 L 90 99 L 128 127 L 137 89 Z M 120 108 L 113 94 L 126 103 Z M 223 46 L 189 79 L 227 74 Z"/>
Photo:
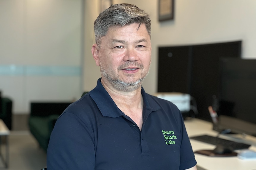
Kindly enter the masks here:
<path id="1" fill-rule="evenodd" d="M 213 135 L 217 132 L 212 130 L 211 122 L 192 118 L 184 121 L 189 136 L 195 135 Z M 214 149 L 215 145 L 203 143 L 197 140 L 190 140 L 193 151 L 202 149 Z M 256 145 L 252 145 L 250 150 L 256 151 Z M 239 150 L 237 151 L 239 152 Z M 195 153 L 197 165 L 207 170 L 256 170 L 256 159 L 242 160 L 238 157 L 209 157 Z"/>

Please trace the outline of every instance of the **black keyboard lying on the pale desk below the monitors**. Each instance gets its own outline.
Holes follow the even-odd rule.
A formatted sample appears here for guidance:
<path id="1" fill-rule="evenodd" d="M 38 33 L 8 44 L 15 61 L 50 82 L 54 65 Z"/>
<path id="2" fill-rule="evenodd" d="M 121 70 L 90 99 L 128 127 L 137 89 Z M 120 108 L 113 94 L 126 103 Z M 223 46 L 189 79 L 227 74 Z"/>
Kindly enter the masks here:
<path id="1" fill-rule="evenodd" d="M 248 149 L 251 145 L 245 143 L 239 143 L 231 140 L 222 139 L 219 137 L 214 137 L 210 135 L 200 135 L 200 136 L 193 136 L 190 139 L 198 140 L 201 142 L 209 143 L 212 145 L 223 145 L 232 147 L 234 150 L 238 149 Z"/>

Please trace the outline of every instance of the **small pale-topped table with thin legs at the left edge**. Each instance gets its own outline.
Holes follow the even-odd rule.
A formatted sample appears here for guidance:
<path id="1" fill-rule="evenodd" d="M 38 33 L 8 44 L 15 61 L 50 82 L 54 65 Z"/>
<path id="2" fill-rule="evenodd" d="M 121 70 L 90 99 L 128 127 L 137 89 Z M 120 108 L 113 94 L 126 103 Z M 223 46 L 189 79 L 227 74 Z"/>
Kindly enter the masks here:
<path id="1" fill-rule="evenodd" d="M 2 152 L 0 150 L 0 155 L 2 158 L 2 161 L 5 164 L 5 167 L 8 167 L 8 163 L 9 163 L 9 141 L 8 141 L 8 136 L 10 135 L 10 130 L 7 128 L 7 126 L 4 124 L 4 121 L 2 119 L 0 119 L 0 149 L 1 149 L 1 140 L 2 140 L 2 136 L 6 137 L 5 140 L 5 158 L 2 155 Z"/>

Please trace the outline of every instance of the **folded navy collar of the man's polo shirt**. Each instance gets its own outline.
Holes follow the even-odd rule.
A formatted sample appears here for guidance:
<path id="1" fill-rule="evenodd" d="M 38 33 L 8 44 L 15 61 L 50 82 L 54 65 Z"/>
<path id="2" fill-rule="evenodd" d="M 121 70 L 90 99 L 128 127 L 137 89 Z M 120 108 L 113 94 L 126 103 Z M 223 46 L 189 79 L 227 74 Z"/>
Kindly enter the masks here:
<path id="1" fill-rule="evenodd" d="M 89 94 L 98 106 L 102 116 L 116 118 L 123 115 L 122 111 L 116 106 L 116 103 L 101 84 L 101 78 L 98 79 L 97 86 L 91 90 Z M 143 88 L 141 88 L 141 94 L 146 109 L 150 109 L 151 111 L 160 109 L 160 106 L 149 97 L 149 94 L 147 94 Z"/>

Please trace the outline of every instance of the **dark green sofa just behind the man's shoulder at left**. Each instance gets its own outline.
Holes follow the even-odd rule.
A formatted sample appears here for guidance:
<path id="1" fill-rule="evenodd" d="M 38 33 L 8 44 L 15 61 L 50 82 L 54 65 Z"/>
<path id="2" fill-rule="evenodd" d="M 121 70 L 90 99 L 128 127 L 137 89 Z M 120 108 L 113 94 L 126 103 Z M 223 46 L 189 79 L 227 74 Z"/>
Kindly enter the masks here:
<path id="1" fill-rule="evenodd" d="M 72 102 L 31 102 L 28 119 L 29 130 L 39 143 L 40 148 L 47 151 L 50 135 L 56 120 Z"/>

